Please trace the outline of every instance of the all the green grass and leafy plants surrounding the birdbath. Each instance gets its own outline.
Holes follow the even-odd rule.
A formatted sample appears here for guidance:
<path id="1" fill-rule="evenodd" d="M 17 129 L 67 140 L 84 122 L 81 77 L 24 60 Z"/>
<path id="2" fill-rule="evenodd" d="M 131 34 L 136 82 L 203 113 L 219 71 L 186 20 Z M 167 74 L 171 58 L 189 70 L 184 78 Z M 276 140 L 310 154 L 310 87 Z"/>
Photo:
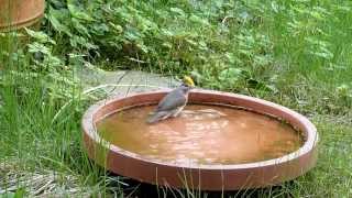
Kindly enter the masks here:
<path id="1" fill-rule="evenodd" d="M 48 1 L 54 10 L 55 2 Z M 18 36 L 1 34 L 0 178 L 6 179 L 0 180 L 0 191 L 15 191 L 11 187 L 18 186 L 18 194 L 33 194 L 35 188 L 20 180 L 33 183 L 32 176 L 38 174 L 55 184 L 52 193 L 61 190 L 65 196 L 221 196 L 156 190 L 154 186 L 116 178 L 88 160 L 79 124 L 82 112 L 95 100 L 82 95 L 76 72 L 91 63 L 107 69 L 193 74 L 201 87 L 264 98 L 312 120 L 321 136 L 316 168 L 278 187 L 224 193 L 224 197 L 350 197 L 352 3 L 218 2 L 117 1 L 112 6 L 120 10 L 100 13 L 95 12 L 100 7 L 87 9 L 85 13 L 96 21 L 80 19 L 79 9 L 76 12 L 80 15 L 66 19 L 67 9 L 61 10 L 57 13 L 62 15 L 55 12 L 59 28 L 65 25 L 73 36 L 57 31 L 47 20 L 40 32 L 56 44 L 35 34 L 26 46 L 19 43 Z M 53 12 L 47 11 L 48 15 Z M 123 33 L 105 32 L 102 24 L 111 29 L 108 22 L 120 25 Z M 85 41 L 79 44 L 75 36 Z M 42 53 L 43 59 L 33 59 L 35 53 Z M 45 186 L 44 182 L 38 186 Z"/>

